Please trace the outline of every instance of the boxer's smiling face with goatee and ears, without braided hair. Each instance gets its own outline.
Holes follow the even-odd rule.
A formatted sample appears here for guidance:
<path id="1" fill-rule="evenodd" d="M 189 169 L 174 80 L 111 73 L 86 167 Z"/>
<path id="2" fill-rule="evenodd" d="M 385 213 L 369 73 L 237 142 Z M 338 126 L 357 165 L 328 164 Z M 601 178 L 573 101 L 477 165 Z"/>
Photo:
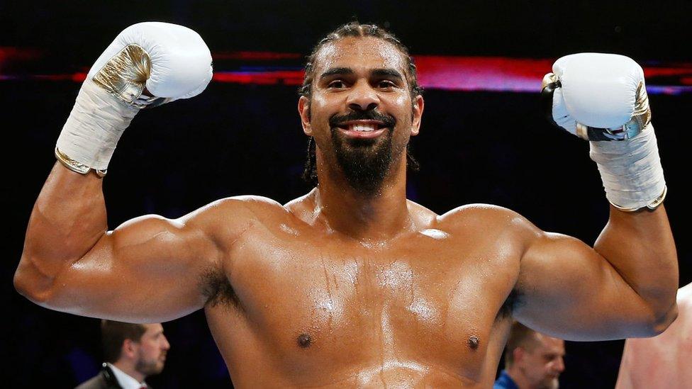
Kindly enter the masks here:
<path id="1" fill-rule="evenodd" d="M 311 98 L 298 109 L 327 171 L 376 192 L 418 134 L 423 98 L 411 96 L 406 57 L 378 38 L 342 38 L 320 49 Z"/>

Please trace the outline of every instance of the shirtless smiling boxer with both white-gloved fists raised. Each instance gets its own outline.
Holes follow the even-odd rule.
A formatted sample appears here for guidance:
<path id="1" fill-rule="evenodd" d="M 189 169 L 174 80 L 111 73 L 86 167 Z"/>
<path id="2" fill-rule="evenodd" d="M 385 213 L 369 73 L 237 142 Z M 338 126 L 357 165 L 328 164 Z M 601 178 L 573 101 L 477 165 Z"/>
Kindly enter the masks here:
<path id="1" fill-rule="evenodd" d="M 423 114 L 415 67 L 389 33 L 357 23 L 306 67 L 298 111 L 316 188 L 284 205 L 238 196 L 108 230 L 102 176 L 118 137 L 138 106 L 199 93 L 210 61 L 199 35 L 160 23 L 126 29 L 99 57 L 30 216 L 20 293 L 128 322 L 203 308 L 238 388 L 490 388 L 513 319 L 575 340 L 653 336 L 674 320 L 676 252 L 632 60 L 566 57 L 546 82 L 567 130 L 606 136 L 579 120 L 633 138 L 591 142 L 618 205 L 594 248 L 493 205 L 435 215 L 408 201 L 406 146 Z"/>

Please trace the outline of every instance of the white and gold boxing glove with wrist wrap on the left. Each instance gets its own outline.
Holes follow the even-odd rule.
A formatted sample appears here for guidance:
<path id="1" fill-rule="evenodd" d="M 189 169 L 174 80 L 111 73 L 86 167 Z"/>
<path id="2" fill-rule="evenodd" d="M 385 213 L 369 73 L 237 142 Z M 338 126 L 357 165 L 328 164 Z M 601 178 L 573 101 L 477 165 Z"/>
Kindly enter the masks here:
<path id="1" fill-rule="evenodd" d="M 89 70 L 58 137 L 57 159 L 82 174 L 105 174 L 140 108 L 196 96 L 211 76 L 211 52 L 193 30 L 159 22 L 125 28 Z"/>

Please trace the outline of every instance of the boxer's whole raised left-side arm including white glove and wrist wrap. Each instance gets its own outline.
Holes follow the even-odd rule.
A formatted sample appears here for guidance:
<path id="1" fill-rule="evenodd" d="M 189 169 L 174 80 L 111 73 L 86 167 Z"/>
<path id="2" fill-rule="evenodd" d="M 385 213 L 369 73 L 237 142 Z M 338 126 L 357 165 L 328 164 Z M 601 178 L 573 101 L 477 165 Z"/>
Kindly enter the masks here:
<path id="1" fill-rule="evenodd" d="M 58 138 L 60 164 L 30 216 L 18 291 L 48 308 L 130 322 L 201 308 L 201 274 L 222 252 L 210 219 L 233 213 L 238 222 L 224 231 L 232 238 L 242 202 L 178 220 L 145 216 L 108 231 L 101 177 L 139 108 L 195 96 L 210 79 L 209 50 L 188 28 L 140 23 L 118 35 L 89 72 Z"/>

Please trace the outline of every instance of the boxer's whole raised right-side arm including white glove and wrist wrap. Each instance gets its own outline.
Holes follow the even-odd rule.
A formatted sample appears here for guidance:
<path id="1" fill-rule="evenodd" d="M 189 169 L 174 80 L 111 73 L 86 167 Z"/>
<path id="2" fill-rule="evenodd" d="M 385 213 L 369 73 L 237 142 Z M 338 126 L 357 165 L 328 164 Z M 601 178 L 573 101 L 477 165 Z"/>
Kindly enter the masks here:
<path id="1" fill-rule="evenodd" d="M 658 334 L 676 317 L 678 268 L 642 69 L 596 53 L 553 69 L 552 118 L 591 141 L 610 218 L 593 248 L 525 223 L 515 318 L 563 339 Z"/>

